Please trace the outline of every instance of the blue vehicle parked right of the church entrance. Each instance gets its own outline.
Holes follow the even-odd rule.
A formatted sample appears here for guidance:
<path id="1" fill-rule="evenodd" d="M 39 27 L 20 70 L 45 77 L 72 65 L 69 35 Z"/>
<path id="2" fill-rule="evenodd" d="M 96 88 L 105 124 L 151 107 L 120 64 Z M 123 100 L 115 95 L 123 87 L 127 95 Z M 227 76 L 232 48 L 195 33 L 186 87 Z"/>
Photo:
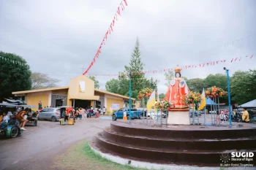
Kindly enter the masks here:
<path id="1" fill-rule="evenodd" d="M 140 115 L 143 115 L 143 111 L 142 110 L 138 110 L 136 108 L 132 108 L 131 112 L 129 112 L 129 108 L 121 108 L 118 111 L 113 112 L 112 120 L 116 121 L 117 119 L 123 119 L 124 109 L 127 112 L 127 118 L 129 118 L 129 116 L 130 116 L 131 119 L 137 119 L 138 117 L 140 117 Z"/>

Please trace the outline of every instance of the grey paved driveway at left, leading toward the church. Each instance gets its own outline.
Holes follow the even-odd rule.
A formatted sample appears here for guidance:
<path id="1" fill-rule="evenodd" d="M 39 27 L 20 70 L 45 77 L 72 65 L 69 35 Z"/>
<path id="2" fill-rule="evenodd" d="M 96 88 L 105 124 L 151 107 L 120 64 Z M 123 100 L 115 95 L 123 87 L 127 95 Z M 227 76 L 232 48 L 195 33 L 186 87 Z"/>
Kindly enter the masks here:
<path id="1" fill-rule="evenodd" d="M 40 120 L 36 127 L 26 126 L 22 136 L 0 139 L 0 170 L 48 170 L 54 155 L 81 140 L 90 139 L 110 126 L 111 120 L 84 119 L 75 125 Z"/>

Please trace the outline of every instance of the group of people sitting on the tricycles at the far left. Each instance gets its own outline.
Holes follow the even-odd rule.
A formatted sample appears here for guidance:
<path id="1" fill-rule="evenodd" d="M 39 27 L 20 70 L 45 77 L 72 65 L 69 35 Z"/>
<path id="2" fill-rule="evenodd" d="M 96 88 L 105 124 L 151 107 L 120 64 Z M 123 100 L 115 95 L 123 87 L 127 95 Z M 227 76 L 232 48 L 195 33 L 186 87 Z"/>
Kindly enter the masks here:
<path id="1" fill-rule="evenodd" d="M 24 107 L 18 107 L 15 109 L 15 112 L 12 113 L 12 109 L 3 110 L 0 114 L 0 128 L 3 128 L 4 125 L 9 123 L 10 120 L 16 120 L 16 123 L 19 124 L 19 128 L 23 131 L 26 131 L 24 128 L 26 123 L 29 121 L 28 117 L 32 115 L 38 115 L 38 112 L 32 112 L 31 109 Z"/>

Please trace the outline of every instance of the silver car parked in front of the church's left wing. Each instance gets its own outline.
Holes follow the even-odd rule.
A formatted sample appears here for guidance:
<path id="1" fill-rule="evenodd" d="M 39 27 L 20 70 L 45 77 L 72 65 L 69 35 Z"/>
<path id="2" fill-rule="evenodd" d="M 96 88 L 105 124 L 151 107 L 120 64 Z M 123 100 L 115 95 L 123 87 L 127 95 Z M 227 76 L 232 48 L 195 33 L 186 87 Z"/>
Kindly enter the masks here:
<path id="1" fill-rule="evenodd" d="M 56 122 L 56 120 L 60 120 L 60 109 L 54 107 L 48 107 L 39 111 L 38 120 L 52 120 Z"/>

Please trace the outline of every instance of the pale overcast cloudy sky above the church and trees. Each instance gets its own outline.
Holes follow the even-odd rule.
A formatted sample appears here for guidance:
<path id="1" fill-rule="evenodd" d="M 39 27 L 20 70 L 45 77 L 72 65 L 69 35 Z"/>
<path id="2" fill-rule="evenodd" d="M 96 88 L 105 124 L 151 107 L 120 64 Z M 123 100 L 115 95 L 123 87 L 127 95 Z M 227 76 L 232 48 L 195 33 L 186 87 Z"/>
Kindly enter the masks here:
<path id="1" fill-rule="evenodd" d="M 48 74 L 61 80 L 59 86 L 67 86 L 89 67 L 120 2 L 0 0 L 0 50 L 22 56 L 32 72 Z M 182 76 L 191 79 L 225 74 L 224 66 L 230 75 L 256 67 L 254 0 L 127 0 L 127 4 L 89 74 L 124 71 L 137 37 L 145 71 L 227 60 L 183 69 Z M 238 59 L 231 63 L 232 58 Z M 146 77 L 159 80 L 159 93 L 167 91 L 162 72 Z M 97 76 L 100 89 L 112 78 Z"/>

